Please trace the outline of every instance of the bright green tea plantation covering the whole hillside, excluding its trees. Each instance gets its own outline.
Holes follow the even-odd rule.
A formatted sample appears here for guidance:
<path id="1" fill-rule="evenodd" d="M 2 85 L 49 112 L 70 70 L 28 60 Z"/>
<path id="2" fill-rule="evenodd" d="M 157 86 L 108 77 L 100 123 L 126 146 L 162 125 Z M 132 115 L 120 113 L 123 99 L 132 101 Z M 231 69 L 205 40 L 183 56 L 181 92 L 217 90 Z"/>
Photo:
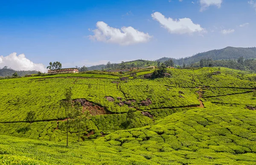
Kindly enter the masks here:
<path id="1" fill-rule="evenodd" d="M 144 78 L 153 71 L 0 80 L 0 164 L 256 164 L 255 74 L 190 68 Z M 82 142 L 70 129 L 69 147 L 59 128 L 67 87 L 92 114 Z"/>

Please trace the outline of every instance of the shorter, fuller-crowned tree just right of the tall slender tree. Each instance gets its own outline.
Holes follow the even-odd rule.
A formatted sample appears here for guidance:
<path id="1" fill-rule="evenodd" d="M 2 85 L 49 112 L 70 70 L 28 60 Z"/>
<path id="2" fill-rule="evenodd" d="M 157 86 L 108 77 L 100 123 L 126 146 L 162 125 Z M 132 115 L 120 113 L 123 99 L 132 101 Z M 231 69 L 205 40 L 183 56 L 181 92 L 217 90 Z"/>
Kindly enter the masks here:
<path id="1" fill-rule="evenodd" d="M 80 102 L 75 102 L 73 109 L 71 111 L 71 121 L 70 124 L 78 129 L 78 142 L 80 139 L 80 130 L 86 128 L 86 124 L 91 117 L 90 111 L 83 111 L 83 107 Z"/>

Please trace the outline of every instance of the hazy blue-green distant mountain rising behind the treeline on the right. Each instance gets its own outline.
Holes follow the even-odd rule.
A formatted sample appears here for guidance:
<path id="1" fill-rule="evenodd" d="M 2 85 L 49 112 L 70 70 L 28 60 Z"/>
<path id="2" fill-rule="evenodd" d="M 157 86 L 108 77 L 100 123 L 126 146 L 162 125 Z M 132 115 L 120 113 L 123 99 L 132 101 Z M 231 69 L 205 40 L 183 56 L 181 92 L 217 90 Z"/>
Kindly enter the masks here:
<path id="1" fill-rule="evenodd" d="M 212 60 L 231 60 L 238 59 L 239 57 L 244 57 L 244 59 L 256 58 L 256 47 L 252 48 L 235 48 L 228 46 L 223 49 L 215 49 L 203 53 L 195 54 L 191 57 L 185 57 L 180 59 L 163 57 L 156 61 L 164 62 L 166 60 L 172 59 L 175 64 L 182 65 L 183 62 L 186 64 L 192 64 L 199 62 L 201 59 L 212 59 Z"/>

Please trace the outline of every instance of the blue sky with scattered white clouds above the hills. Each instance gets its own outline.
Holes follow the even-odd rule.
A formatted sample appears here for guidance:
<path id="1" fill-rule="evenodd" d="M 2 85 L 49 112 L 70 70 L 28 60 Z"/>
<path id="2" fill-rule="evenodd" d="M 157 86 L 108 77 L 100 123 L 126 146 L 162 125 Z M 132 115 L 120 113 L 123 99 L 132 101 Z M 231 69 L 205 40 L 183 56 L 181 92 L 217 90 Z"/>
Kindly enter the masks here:
<path id="1" fill-rule="evenodd" d="M 1 1 L 0 67 L 187 57 L 254 47 L 255 29 L 256 0 Z"/>

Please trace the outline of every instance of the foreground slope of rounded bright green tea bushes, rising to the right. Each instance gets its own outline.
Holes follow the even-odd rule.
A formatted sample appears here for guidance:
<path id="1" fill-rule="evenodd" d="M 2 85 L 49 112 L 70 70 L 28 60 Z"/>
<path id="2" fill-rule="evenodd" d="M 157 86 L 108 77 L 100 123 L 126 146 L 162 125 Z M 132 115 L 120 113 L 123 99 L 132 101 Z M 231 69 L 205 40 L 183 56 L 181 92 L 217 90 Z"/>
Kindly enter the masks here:
<path id="1" fill-rule="evenodd" d="M 256 112 L 234 107 L 178 112 L 142 128 L 71 143 L 0 136 L 6 164 L 241 164 L 256 163 Z M 70 135 L 71 136 L 71 135 Z M 40 151 L 40 152 L 38 152 Z"/>

